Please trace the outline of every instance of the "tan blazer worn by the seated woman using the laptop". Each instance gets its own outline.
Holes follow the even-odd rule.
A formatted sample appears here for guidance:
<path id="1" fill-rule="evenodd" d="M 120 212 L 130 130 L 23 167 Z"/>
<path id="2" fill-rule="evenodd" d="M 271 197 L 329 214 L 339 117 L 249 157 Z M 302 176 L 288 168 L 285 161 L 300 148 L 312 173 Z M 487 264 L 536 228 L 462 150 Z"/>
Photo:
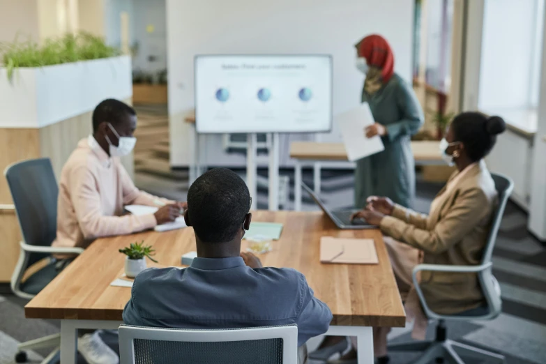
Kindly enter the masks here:
<path id="1" fill-rule="evenodd" d="M 423 215 L 395 206 L 381 221 L 381 231 L 423 251 L 423 263 L 476 265 L 485 248 L 497 193 L 482 160 L 460 179 L 455 172 L 434 199 L 434 211 Z M 427 305 L 439 314 L 455 314 L 485 303 L 476 273 L 421 272 Z"/>

